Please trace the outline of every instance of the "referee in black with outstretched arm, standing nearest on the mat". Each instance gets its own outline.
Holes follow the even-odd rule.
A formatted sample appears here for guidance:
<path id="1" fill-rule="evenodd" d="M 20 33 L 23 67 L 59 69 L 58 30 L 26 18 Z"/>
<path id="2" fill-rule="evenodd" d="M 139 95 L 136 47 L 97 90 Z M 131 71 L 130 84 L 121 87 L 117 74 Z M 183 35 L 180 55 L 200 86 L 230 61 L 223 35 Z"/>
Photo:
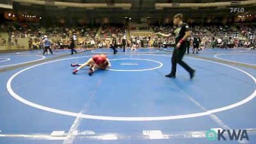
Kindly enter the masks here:
<path id="1" fill-rule="evenodd" d="M 176 77 L 176 68 L 177 63 L 180 66 L 185 68 L 189 72 L 189 76 L 191 79 L 195 76 L 195 70 L 189 67 L 182 58 L 186 53 L 186 40 L 190 36 L 189 26 L 185 22 L 182 22 L 182 14 L 178 13 L 173 17 L 173 24 L 177 27 L 172 33 L 168 35 L 164 35 L 163 33 L 155 33 L 154 35 L 163 36 L 164 38 L 169 38 L 170 36 L 175 36 L 175 49 L 172 54 L 172 71 L 170 74 L 167 74 L 166 77 Z"/>

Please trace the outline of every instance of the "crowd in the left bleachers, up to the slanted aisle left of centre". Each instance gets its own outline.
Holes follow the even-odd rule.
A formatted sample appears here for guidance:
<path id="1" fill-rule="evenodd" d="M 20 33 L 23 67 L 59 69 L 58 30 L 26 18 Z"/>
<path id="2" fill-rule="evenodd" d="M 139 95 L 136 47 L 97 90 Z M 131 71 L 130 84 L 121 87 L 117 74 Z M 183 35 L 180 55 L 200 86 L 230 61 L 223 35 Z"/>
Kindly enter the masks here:
<path id="1" fill-rule="evenodd" d="M 44 32 L 41 29 L 45 29 Z M 99 28 L 97 26 L 83 25 L 76 27 L 68 26 L 36 26 L 29 24 L 8 23 L 0 25 L 0 33 L 7 33 L 8 37 L 1 38 L 0 45 L 19 46 L 18 38 L 29 38 L 29 47 L 40 48 L 42 36 L 47 35 L 52 44 L 61 45 L 66 48 L 69 38 L 74 36 L 79 42 L 83 41 L 89 47 L 89 41 L 95 37 Z"/>

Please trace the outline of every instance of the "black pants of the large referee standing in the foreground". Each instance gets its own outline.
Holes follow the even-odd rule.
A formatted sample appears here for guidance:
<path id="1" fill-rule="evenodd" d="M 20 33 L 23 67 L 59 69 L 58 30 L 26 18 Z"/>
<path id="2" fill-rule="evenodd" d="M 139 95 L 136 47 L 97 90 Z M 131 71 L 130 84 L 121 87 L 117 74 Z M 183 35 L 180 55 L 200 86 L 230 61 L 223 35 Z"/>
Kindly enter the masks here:
<path id="1" fill-rule="evenodd" d="M 176 47 L 176 45 L 175 45 Z M 180 45 L 179 49 L 174 49 L 173 54 L 172 54 L 172 72 L 171 74 L 175 75 L 176 74 L 176 68 L 177 68 L 177 63 L 185 70 L 187 70 L 189 73 L 193 72 L 193 69 L 187 65 L 184 61 L 182 61 L 182 58 L 184 54 L 186 53 L 186 44 Z"/>

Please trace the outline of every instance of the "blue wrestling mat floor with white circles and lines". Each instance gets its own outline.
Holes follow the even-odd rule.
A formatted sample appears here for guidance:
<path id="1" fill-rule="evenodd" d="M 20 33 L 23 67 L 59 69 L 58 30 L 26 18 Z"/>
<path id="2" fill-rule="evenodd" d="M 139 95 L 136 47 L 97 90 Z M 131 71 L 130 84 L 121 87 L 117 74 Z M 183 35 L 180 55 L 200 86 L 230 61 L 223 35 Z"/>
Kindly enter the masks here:
<path id="1" fill-rule="evenodd" d="M 0 54 L 0 143 L 256 143 L 256 51 L 111 49 Z M 74 75 L 70 63 L 105 53 L 109 70 Z M 246 129 L 249 141 L 209 141 L 210 129 Z M 224 134 L 228 136 L 227 133 Z"/>

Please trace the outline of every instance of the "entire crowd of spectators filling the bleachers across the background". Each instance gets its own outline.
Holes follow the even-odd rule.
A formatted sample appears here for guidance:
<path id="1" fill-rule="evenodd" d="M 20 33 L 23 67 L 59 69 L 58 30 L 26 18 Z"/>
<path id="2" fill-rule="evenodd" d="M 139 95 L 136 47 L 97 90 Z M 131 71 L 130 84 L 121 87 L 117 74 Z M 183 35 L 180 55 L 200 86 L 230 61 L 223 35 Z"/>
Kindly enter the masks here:
<path id="1" fill-rule="evenodd" d="M 154 32 L 172 33 L 172 25 L 152 26 Z M 1 24 L 1 33 L 8 33 L 8 38 L 1 38 L 0 45 L 19 45 L 17 38 L 29 38 L 28 43 L 31 47 L 40 47 L 41 38 L 47 35 L 53 44 L 59 45 L 60 48 L 67 48 L 69 38 L 72 36 L 79 47 L 96 48 L 109 47 L 111 37 L 115 36 L 117 44 L 122 42 L 122 37 L 125 35 L 124 25 L 104 25 L 99 36 L 96 36 L 99 27 L 83 25 L 83 26 L 45 26 L 44 32 L 42 27 L 29 24 Z M 129 28 L 140 31 L 145 31 L 148 28 Z M 191 38 L 200 37 L 200 45 L 202 47 L 255 47 L 255 26 L 237 26 L 236 31 L 230 26 L 191 26 Z M 239 37 L 239 33 L 243 37 Z M 157 38 L 152 37 L 135 37 L 131 38 L 131 43 L 138 43 L 143 46 L 147 44 L 152 47 L 163 47 L 163 45 L 174 45 L 174 38 Z"/>

